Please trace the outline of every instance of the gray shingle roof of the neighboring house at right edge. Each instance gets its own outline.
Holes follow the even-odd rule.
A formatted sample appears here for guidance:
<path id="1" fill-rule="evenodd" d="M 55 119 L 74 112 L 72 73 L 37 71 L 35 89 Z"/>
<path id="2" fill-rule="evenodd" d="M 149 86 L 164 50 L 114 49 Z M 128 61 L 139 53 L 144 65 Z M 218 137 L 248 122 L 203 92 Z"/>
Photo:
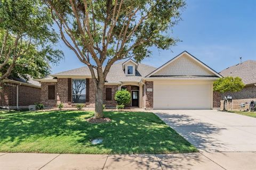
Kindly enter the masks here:
<path id="1" fill-rule="evenodd" d="M 256 83 L 256 61 L 247 60 L 241 64 L 236 64 L 222 70 L 223 77 L 240 77 L 245 84 Z"/>

